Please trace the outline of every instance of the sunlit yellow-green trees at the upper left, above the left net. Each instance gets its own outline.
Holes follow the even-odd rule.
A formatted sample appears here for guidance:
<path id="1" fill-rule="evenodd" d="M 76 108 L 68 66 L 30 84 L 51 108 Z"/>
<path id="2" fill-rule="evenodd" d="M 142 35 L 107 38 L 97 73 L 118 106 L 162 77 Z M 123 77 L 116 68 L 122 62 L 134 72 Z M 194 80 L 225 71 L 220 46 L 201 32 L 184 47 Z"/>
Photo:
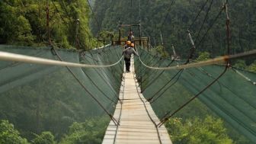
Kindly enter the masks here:
<path id="1" fill-rule="evenodd" d="M 96 40 L 91 36 L 88 28 L 89 14 L 86 1 L 49 0 L 52 42 L 64 48 L 73 46 L 79 49 L 91 49 L 95 46 Z M 76 24 L 77 19 L 79 24 Z M 47 44 L 46 0 L 0 1 L 0 43 Z"/>

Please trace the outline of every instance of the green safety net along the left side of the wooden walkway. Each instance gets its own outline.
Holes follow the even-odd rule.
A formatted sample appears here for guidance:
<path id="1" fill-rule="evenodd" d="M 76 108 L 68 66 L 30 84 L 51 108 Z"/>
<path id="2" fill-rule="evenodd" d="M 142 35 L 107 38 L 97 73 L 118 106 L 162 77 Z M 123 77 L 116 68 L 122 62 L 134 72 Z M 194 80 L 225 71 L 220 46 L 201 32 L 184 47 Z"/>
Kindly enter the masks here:
<path id="1" fill-rule="evenodd" d="M 50 47 L 1 45 L 0 51 L 59 60 Z M 63 61 L 92 65 L 112 64 L 122 55 L 119 46 L 84 52 L 56 49 L 56 52 Z M 88 131 L 101 130 L 103 139 L 110 117 L 89 93 L 114 114 L 123 61 L 108 68 L 70 69 L 75 76 L 65 66 L 0 61 L 0 120 L 14 123 L 27 138 L 33 137 L 33 133 L 50 131 L 57 139 L 68 132 L 72 123 L 93 120 L 98 126 L 88 126 Z"/>

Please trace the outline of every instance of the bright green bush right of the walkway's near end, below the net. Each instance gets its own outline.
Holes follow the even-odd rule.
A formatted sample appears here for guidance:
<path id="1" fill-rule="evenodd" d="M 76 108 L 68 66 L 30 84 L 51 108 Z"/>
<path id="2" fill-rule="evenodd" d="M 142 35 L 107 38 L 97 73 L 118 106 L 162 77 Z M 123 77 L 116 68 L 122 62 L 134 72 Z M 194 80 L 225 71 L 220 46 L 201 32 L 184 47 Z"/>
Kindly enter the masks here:
<path id="1" fill-rule="evenodd" d="M 174 143 L 219 143 L 231 144 L 232 139 L 226 134 L 223 122 L 220 119 L 207 116 L 182 120 L 173 118 L 165 124 Z"/>

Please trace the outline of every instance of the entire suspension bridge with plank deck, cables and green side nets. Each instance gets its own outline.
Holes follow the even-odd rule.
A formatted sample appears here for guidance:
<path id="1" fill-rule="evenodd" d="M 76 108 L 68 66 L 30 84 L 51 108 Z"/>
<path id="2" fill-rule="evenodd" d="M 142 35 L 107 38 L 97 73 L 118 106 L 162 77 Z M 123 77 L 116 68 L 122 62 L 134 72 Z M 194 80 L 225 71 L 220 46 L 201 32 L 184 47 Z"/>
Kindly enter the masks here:
<path id="1" fill-rule="evenodd" d="M 197 20 L 204 6 L 194 21 Z M 219 56 L 215 59 L 191 62 L 197 46 L 200 46 L 219 15 L 225 10 L 228 53 L 226 56 Z M 210 8 L 207 14 L 209 11 Z M 167 16 L 168 13 L 161 25 L 165 23 Z M 47 15 L 47 20 L 49 20 L 49 15 Z M 49 30 L 49 21 L 47 23 Z M 110 118 L 103 138 L 103 143 L 106 144 L 172 143 L 165 123 L 198 98 L 219 117 L 255 142 L 256 74 L 235 69 L 230 66 L 230 62 L 234 59 L 255 56 L 256 50 L 233 55 L 229 53 L 230 28 L 226 3 L 216 15 L 213 24 L 206 30 L 203 37 L 201 39 L 197 37 L 195 42 L 190 31 L 187 30 L 187 37 L 192 48 L 187 59 L 182 59 L 182 61 L 176 59 L 175 56 L 173 59 L 168 59 L 152 55 L 144 46 L 146 39 L 140 37 L 142 33 L 140 20 L 139 24 L 128 25 L 128 27 L 139 27 L 139 38 L 136 41 L 139 56 L 133 57 L 131 72 L 125 72 L 123 69 L 121 35 L 112 45 L 88 51 L 59 50 L 51 43 L 50 35 L 51 46 L 47 47 L 0 45 L 0 74 L 5 75 L 0 82 L 0 98 L 6 101 L 5 98 L 8 96 L 23 95 L 21 91 L 26 93 L 24 99 L 29 99 L 26 98 L 27 95 L 41 95 L 41 98 L 37 100 L 35 114 L 38 129 L 40 129 L 39 123 L 43 123 L 41 122 L 43 118 L 40 118 L 41 99 L 52 100 L 48 104 L 49 107 L 53 105 L 66 109 L 69 114 L 63 114 L 65 117 L 62 117 L 62 120 L 79 117 L 74 111 L 81 107 L 85 110 L 80 112 L 84 113 L 82 118 L 106 115 Z M 127 27 L 127 25 L 120 24 L 119 31 L 122 27 Z M 50 34 L 49 31 L 48 34 Z M 146 43 L 148 45 L 148 41 Z M 192 96 L 183 98 L 178 89 L 180 85 Z M 244 88 L 241 89 L 241 86 Z M 42 87 L 46 90 L 36 91 Z M 51 94 L 55 97 L 50 98 Z M 174 104 L 171 101 L 171 94 L 178 95 L 181 101 Z M 64 98 L 62 98 L 63 95 L 65 95 Z M 78 100 L 73 99 L 71 95 L 75 95 Z M 72 110 L 70 100 L 77 101 L 80 105 L 75 105 L 75 109 Z M 11 106 L 7 103 L 2 107 L 5 109 Z M 158 109 L 161 108 L 164 112 L 160 114 Z M 48 110 L 44 110 L 46 111 Z M 11 116 L 6 114 L 6 117 Z"/>

